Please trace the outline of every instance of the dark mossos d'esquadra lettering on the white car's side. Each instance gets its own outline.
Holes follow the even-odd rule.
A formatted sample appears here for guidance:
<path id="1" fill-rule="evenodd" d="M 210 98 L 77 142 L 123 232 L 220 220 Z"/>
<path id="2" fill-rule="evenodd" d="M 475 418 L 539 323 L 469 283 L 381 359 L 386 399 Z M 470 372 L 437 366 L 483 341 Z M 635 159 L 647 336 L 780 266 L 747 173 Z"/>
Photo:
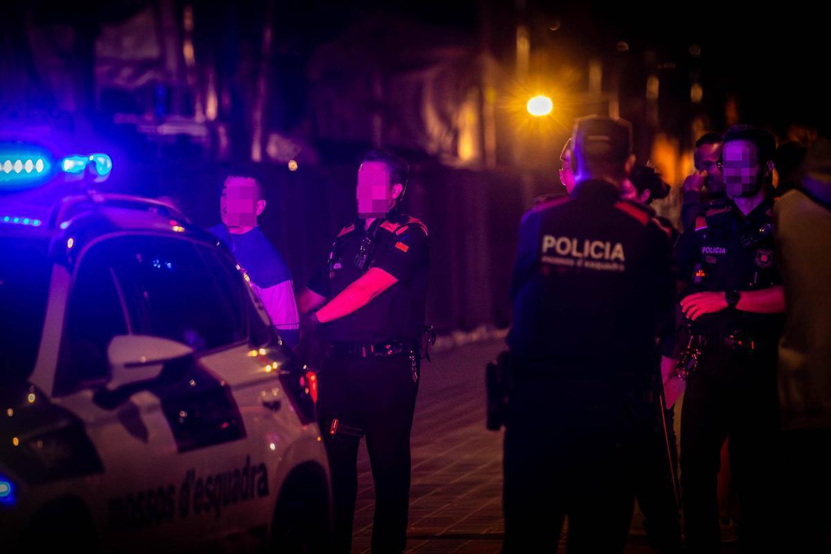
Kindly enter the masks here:
<path id="1" fill-rule="evenodd" d="M 265 463 L 252 465 L 251 457 L 246 456 L 242 468 L 208 477 L 196 477 L 196 469 L 189 469 L 178 493 L 175 485 L 169 484 L 111 498 L 107 507 L 108 522 L 111 527 L 122 529 L 172 522 L 177 503 L 180 519 L 189 517 L 191 511 L 197 516 L 214 512 L 214 517 L 219 519 L 223 507 L 267 496 Z"/>

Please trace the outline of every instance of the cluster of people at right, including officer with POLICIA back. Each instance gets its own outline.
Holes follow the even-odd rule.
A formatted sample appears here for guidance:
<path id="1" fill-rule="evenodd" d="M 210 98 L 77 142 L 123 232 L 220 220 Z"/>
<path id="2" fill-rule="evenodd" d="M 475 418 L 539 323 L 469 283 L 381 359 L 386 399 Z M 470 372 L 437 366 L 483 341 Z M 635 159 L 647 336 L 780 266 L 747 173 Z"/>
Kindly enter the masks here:
<path id="1" fill-rule="evenodd" d="M 812 194 L 784 172 L 774 189 L 767 131 L 701 137 L 679 236 L 647 205 L 668 188 L 635 165 L 631 125 L 577 121 L 567 194 L 520 223 L 507 369 L 491 383 L 508 398 L 505 552 L 553 552 L 565 517 L 569 552 L 622 552 L 635 498 L 657 552 L 719 552 L 727 463 L 742 552 L 829 552 L 831 188 L 828 143 L 815 146 Z"/>

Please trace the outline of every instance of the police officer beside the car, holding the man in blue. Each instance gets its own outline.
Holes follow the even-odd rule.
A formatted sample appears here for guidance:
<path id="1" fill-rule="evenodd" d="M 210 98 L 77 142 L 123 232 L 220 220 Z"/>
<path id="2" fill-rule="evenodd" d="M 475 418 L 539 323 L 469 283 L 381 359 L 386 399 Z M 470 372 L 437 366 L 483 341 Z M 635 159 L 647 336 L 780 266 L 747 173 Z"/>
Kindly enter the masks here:
<path id="1" fill-rule="evenodd" d="M 398 208 L 406 162 L 371 151 L 357 174 L 358 218 L 342 228 L 300 297 L 302 329 L 332 341 L 318 381 L 318 419 L 332 468 L 334 541 L 349 552 L 361 436 L 375 481 L 373 552 L 406 546 L 410 431 L 420 378 L 430 243 Z"/>

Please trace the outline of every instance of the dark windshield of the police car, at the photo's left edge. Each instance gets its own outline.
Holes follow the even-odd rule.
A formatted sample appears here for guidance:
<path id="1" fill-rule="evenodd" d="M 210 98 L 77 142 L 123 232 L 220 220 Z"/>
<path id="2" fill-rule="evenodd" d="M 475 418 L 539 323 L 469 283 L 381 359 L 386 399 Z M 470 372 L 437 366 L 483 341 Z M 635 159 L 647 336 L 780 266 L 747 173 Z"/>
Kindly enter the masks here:
<path id="1" fill-rule="evenodd" d="M 46 238 L 0 237 L 0 382 L 32 373 L 46 313 Z"/>

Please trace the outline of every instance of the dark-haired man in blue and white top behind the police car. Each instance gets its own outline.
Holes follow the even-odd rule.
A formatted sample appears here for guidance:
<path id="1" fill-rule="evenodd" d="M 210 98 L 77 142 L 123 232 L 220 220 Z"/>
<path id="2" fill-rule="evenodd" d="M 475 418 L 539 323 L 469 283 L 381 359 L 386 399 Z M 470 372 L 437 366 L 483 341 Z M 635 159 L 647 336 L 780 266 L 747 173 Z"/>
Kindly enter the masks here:
<path id="1" fill-rule="evenodd" d="M 264 209 L 263 191 L 257 179 L 229 175 L 219 199 L 222 223 L 210 228 L 210 232 L 234 252 L 273 325 L 283 341 L 293 347 L 299 341 L 300 318 L 294 300 L 292 274 L 257 224 Z"/>

